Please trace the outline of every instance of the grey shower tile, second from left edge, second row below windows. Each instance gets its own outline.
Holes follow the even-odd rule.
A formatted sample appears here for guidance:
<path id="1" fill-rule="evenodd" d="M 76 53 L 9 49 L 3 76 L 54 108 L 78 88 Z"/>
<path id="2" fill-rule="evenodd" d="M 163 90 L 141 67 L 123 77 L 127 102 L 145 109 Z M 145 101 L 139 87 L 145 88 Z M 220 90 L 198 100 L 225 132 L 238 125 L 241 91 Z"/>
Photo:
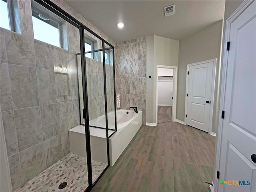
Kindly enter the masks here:
<path id="1" fill-rule="evenodd" d="M 36 68 L 10 64 L 8 67 L 13 108 L 38 106 Z"/>

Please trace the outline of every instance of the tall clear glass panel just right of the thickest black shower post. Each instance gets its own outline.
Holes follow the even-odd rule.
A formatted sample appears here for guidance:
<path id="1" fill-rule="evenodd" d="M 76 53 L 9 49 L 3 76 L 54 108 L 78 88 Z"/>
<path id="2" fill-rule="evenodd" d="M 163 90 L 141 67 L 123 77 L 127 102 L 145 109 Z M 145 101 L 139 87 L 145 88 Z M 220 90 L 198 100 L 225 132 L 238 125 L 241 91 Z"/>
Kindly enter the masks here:
<path id="1" fill-rule="evenodd" d="M 84 30 L 92 182 L 108 166 L 102 40 Z"/>

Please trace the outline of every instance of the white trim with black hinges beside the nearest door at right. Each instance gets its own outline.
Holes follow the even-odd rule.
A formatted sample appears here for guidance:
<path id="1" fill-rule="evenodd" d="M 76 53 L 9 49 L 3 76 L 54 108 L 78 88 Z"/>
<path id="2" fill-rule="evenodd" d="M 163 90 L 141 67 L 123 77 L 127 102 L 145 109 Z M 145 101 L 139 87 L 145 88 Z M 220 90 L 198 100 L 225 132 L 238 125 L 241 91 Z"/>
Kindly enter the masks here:
<path id="1" fill-rule="evenodd" d="M 230 17 L 226 20 L 226 28 L 225 28 L 225 38 L 224 42 L 230 40 L 230 28 L 231 23 L 240 15 L 250 4 L 254 1 L 243 1 L 240 6 L 230 15 Z M 224 50 L 227 49 L 227 44 L 224 44 Z M 226 89 L 226 75 L 227 75 L 227 67 L 228 67 L 228 51 L 223 52 L 223 60 L 222 60 L 222 76 L 221 76 L 221 89 L 220 89 L 220 109 L 219 109 L 219 124 L 218 124 L 218 136 L 216 140 L 216 155 L 214 160 L 214 183 L 218 183 L 217 179 L 217 171 L 220 168 L 220 150 L 221 150 L 221 139 L 222 139 L 222 123 L 223 119 L 221 118 L 221 111 L 224 110 L 224 98 L 225 98 L 225 89 Z M 218 191 L 218 186 L 214 188 L 214 191 Z"/>

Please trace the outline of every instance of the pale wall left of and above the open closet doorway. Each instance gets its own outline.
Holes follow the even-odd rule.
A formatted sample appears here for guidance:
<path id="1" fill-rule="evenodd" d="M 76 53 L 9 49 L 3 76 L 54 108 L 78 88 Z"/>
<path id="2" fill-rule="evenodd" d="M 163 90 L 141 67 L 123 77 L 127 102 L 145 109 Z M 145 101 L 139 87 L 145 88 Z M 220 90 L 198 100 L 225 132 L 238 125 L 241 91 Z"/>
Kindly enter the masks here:
<path id="1" fill-rule="evenodd" d="M 179 41 L 160 36 L 148 36 L 146 122 L 156 123 L 156 66 L 178 66 Z M 149 78 L 151 76 L 151 78 Z"/>

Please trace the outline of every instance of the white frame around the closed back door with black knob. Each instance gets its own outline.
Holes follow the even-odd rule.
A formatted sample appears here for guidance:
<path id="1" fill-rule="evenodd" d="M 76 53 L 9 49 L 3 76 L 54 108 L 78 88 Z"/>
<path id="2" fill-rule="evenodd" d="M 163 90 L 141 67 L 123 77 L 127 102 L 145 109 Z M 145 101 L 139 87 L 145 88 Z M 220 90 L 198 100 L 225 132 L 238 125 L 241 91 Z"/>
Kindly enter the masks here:
<path id="1" fill-rule="evenodd" d="M 200 61 L 200 62 L 196 62 L 196 63 L 192 63 L 192 64 L 187 64 L 184 123 L 185 123 L 185 125 L 187 124 L 186 114 L 187 114 L 187 107 L 188 107 L 188 97 L 187 97 L 187 94 L 188 94 L 188 76 L 189 76 L 188 71 L 189 71 L 189 67 L 190 66 L 199 65 L 199 64 L 208 63 L 208 62 L 213 62 L 213 68 L 212 68 L 212 94 L 211 94 L 211 100 L 210 100 L 210 119 L 209 119 L 208 134 L 216 136 L 216 133 L 212 132 L 212 116 L 213 116 L 213 106 L 214 106 L 214 90 L 215 90 L 215 81 L 216 81 L 216 62 L 217 62 L 217 58 L 206 60 L 206 61 Z"/>

